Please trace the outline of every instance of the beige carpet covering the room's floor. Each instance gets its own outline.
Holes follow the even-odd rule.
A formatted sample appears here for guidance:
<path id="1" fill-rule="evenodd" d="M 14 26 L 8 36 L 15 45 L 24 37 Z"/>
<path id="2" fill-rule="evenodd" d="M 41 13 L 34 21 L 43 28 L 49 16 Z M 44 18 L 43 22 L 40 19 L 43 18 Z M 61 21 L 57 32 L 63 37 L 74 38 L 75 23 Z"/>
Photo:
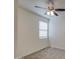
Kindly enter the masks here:
<path id="1" fill-rule="evenodd" d="M 65 51 L 57 48 L 46 48 L 25 56 L 24 59 L 65 59 Z"/>

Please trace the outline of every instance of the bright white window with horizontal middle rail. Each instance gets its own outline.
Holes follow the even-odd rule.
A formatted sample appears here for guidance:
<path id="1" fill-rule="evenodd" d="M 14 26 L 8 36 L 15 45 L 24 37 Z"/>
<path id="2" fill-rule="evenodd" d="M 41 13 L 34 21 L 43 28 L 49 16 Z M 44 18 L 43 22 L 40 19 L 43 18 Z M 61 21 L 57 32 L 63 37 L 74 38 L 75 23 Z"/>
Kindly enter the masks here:
<path id="1" fill-rule="evenodd" d="M 48 38 L 48 23 L 44 21 L 39 21 L 39 38 L 40 39 Z"/>

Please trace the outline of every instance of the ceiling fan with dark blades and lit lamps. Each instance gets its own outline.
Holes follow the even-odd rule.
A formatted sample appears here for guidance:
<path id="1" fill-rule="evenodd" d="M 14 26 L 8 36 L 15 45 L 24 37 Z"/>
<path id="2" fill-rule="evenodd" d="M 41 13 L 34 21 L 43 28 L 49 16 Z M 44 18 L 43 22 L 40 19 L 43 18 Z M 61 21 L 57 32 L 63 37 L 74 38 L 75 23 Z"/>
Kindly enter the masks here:
<path id="1" fill-rule="evenodd" d="M 58 9 L 55 9 L 54 8 L 54 2 L 52 0 L 48 0 L 48 6 L 47 8 L 44 8 L 44 7 L 40 7 L 40 6 L 34 6 L 35 8 L 41 8 L 41 9 L 45 9 L 46 12 L 45 14 L 47 15 L 55 15 L 55 16 L 59 16 L 56 11 L 65 11 L 65 9 L 62 9 L 62 8 L 58 8 Z"/>

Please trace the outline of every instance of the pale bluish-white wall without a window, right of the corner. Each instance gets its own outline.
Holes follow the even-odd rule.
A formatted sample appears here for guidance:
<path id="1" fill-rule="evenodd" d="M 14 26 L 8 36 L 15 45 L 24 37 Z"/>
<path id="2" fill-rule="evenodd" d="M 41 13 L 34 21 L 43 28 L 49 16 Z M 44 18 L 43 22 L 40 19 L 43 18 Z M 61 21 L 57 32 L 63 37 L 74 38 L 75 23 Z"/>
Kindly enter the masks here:
<path id="1" fill-rule="evenodd" d="M 52 47 L 65 49 L 65 16 L 50 19 L 49 39 Z"/>

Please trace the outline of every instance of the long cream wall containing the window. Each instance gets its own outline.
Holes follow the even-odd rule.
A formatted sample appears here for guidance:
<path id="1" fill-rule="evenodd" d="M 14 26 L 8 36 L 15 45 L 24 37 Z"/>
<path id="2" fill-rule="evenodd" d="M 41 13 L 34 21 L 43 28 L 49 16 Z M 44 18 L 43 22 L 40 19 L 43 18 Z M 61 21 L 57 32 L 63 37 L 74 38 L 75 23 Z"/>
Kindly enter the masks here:
<path id="1" fill-rule="evenodd" d="M 23 8 L 17 10 L 17 40 L 15 58 L 26 56 L 49 46 L 48 40 L 40 40 L 38 21 L 47 19 L 37 16 Z"/>

